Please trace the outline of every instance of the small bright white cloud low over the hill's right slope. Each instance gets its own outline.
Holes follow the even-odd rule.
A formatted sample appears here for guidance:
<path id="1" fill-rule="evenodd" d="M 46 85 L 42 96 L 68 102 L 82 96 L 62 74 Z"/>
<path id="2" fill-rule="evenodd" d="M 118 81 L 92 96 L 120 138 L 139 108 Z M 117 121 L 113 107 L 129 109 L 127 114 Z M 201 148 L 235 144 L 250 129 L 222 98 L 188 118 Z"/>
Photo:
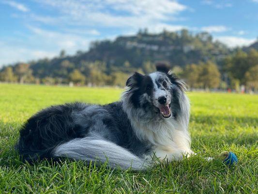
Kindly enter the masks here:
<path id="1" fill-rule="evenodd" d="M 256 41 L 256 39 L 248 39 L 237 36 L 217 36 L 214 39 L 223 42 L 231 48 L 248 46 Z"/>

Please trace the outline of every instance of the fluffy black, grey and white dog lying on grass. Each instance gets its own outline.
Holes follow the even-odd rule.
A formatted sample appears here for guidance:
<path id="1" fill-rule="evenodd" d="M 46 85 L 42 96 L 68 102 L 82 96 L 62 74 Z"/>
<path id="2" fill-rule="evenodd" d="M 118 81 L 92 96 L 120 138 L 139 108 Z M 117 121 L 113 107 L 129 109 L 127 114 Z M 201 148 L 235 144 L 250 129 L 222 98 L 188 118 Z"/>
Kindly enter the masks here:
<path id="1" fill-rule="evenodd" d="M 69 158 L 133 170 L 152 166 L 153 158 L 170 162 L 195 154 L 186 86 L 167 65 L 156 70 L 134 73 L 120 101 L 74 102 L 36 113 L 20 130 L 18 153 L 28 162 Z"/>

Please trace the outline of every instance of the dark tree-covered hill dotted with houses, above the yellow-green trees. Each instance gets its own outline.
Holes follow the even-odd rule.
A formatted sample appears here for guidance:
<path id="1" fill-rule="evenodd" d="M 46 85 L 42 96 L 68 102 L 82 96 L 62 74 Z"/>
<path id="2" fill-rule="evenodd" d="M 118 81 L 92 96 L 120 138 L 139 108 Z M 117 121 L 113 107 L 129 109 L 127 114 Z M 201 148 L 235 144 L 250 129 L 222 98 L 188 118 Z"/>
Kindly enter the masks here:
<path id="1" fill-rule="evenodd" d="M 133 36 L 119 36 L 114 41 L 92 42 L 89 51 L 78 51 L 74 56 L 63 55 L 51 60 L 31 62 L 30 68 L 35 77 L 57 77 L 74 68 L 87 71 L 89 63 L 99 61 L 109 74 L 117 70 L 131 72 L 142 68 L 145 62 L 165 61 L 171 66 L 182 67 L 207 60 L 219 63 L 228 53 L 225 45 L 212 41 L 212 36 L 206 32 L 196 35 L 186 30 L 157 34 L 138 32 Z M 64 60 L 71 64 L 62 64 Z"/>

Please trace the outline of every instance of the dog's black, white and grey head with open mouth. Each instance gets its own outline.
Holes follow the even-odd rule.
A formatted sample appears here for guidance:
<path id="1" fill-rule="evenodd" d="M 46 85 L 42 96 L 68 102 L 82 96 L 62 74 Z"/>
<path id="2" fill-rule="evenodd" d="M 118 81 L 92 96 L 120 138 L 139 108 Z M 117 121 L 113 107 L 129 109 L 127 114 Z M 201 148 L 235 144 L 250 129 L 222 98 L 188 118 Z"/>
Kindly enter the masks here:
<path id="1" fill-rule="evenodd" d="M 129 100 L 135 108 L 148 108 L 163 118 L 172 114 L 176 92 L 184 92 L 185 84 L 170 73 L 165 64 L 156 65 L 157 71 L 149 75 L 135 73 L 126 81 Z M 178 100 L 176 100 L 178 101 Z"/>

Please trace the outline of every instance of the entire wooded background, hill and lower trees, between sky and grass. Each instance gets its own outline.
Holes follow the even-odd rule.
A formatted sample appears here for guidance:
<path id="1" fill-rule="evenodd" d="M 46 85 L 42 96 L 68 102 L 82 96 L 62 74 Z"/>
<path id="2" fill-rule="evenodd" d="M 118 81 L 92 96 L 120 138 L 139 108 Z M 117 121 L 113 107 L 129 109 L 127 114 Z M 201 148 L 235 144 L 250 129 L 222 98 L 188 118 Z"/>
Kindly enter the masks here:
<path id="1" fill-rule="evenodd" d="M 190 88 L 238 91 L 240 85 L 245 85 L 247 89 L 258 89 L 257 49 L 230 50 L 206 32 L 193 35 L 186 30 L 159 34 L 140 31 L 113 42 L 93 42 L 89 51 L 77 51 L 74 56 L 62 50 L 53 59 L 4 66 L 0 81 L 122 87 L 135 71 L 155 71 L 156 62 L 170 65 Z"/>

